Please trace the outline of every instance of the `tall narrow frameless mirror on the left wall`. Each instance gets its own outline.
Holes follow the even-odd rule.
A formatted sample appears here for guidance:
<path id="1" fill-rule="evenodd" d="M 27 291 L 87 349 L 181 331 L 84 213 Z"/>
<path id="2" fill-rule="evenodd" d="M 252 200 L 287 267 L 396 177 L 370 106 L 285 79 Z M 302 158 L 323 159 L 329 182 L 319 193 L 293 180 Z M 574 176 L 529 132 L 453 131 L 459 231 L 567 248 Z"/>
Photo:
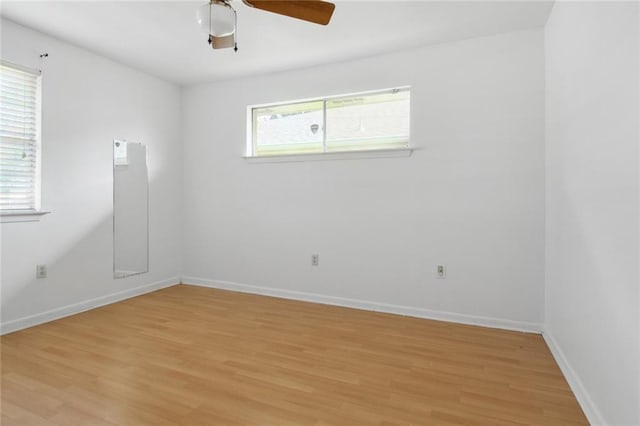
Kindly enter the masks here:
<path id="1" fill-rule="evenodd" d="M 149 271 L 147 148 L 113 141 L 113 276 Z"/>

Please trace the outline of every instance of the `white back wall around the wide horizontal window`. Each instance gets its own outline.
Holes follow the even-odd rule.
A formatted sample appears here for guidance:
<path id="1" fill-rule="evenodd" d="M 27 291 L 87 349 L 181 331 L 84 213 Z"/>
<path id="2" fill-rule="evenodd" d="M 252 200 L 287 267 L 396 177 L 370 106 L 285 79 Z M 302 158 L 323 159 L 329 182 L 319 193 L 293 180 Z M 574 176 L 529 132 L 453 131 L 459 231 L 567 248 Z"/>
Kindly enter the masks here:
<path id="1" fill-rule="evenodd" d="M 543 45 L 537 29 L 186 89 L 183 281 L 539 327 Z M 400 85 L 410 158 L 241 158 L 247 105 Z"/>

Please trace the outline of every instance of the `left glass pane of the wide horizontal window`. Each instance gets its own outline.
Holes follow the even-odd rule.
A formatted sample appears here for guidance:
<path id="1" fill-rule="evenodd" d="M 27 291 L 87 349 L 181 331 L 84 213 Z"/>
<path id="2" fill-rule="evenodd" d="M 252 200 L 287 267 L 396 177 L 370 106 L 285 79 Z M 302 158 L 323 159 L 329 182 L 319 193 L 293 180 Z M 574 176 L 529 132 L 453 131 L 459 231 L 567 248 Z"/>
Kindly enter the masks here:
<path id="1" fill-rule="evenodd" d="M 323 101 L 253 109 L 253 155 L 323 151 Z"/>

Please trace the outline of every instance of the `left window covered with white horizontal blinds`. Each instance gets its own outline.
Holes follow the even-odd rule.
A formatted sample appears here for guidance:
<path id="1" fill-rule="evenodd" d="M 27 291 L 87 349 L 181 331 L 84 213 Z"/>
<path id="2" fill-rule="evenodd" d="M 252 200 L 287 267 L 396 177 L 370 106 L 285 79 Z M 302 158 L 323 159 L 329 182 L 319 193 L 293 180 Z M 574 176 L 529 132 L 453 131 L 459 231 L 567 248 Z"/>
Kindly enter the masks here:
<path id="1" fill-rule="evenodd" d="M 40 208 L 40 72 L 0 63 L 0 212 Z"/>

